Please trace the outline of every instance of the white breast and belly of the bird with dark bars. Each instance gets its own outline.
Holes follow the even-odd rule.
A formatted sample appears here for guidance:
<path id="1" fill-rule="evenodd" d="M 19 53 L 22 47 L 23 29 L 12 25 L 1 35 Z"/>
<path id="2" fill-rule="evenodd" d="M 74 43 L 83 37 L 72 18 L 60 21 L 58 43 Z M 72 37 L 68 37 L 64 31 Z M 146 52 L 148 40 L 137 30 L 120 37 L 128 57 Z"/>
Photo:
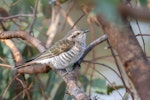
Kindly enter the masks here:
<path id="1" fill-rule="evenodd" d="M 65 69 L 70 64 L 76 62 L 83 54 L 85 46 L 76 44 L 67 52 L 61 53 L 50 59 L 50 64 L 55 69 Z"/>

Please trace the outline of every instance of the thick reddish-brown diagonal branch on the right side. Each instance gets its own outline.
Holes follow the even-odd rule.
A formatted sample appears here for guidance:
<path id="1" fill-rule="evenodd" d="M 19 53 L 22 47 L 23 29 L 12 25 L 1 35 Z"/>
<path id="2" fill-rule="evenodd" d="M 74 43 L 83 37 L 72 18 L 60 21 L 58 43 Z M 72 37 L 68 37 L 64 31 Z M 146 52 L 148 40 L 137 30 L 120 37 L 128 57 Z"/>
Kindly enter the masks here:
<path id="1" fill-rule="evenodd" d="M 121 28 L 109 23 L 101 15 L 93 17 L 102 25 L 111 46 L 117 51 L 128 77 L 131 78 L 142 100 L 150 97 L 150 62 L 127 24 Z M 144 84 L 144 85 L 142 85 Z"/>

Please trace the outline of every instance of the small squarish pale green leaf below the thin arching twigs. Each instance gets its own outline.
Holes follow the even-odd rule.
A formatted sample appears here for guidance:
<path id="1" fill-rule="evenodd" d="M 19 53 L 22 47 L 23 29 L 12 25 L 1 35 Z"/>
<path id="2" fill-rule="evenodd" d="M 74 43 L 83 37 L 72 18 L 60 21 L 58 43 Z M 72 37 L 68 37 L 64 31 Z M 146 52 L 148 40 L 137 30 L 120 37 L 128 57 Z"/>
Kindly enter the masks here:
<path id="1" fill-rule="evenodd" d="M 104 79 L 94 79 L 92 81 L 92 88 L 98 93 L 107 93 L 106 80 Z"/>

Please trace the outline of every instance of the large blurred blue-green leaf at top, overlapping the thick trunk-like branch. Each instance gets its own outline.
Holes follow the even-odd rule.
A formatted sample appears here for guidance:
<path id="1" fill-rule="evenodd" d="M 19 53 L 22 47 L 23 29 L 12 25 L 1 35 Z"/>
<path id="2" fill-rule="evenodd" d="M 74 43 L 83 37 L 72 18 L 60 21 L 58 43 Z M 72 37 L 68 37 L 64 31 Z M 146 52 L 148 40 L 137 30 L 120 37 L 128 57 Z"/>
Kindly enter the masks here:
<path id="1" fill-rule="evenodd" d="M 102 14 L 107 20 L 120 23 L 121 18 L 118 13 L 118 5 L 120 0 L 96 0 L 95 8 L 91 12 L 91 15 Z"/>

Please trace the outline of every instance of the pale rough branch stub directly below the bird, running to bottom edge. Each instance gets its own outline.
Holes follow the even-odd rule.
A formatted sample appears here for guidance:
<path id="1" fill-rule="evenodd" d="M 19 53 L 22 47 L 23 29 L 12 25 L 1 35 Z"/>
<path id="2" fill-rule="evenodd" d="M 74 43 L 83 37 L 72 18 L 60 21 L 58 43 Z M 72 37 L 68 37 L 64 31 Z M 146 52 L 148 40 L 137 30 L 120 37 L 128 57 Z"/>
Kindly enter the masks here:
<path id="1" fill-rule="evenodd" d="M 56 70 L 57 73 L 63 78 L 67 85 L 67 92 L 75 98 L 75 100 L 90 100 L 90 97 L 87 96 L 81 88 L 77 84 L 78 77 L 78 67 L 76 67 L 73 71 L 66 74 L 66 70 Z"/>

